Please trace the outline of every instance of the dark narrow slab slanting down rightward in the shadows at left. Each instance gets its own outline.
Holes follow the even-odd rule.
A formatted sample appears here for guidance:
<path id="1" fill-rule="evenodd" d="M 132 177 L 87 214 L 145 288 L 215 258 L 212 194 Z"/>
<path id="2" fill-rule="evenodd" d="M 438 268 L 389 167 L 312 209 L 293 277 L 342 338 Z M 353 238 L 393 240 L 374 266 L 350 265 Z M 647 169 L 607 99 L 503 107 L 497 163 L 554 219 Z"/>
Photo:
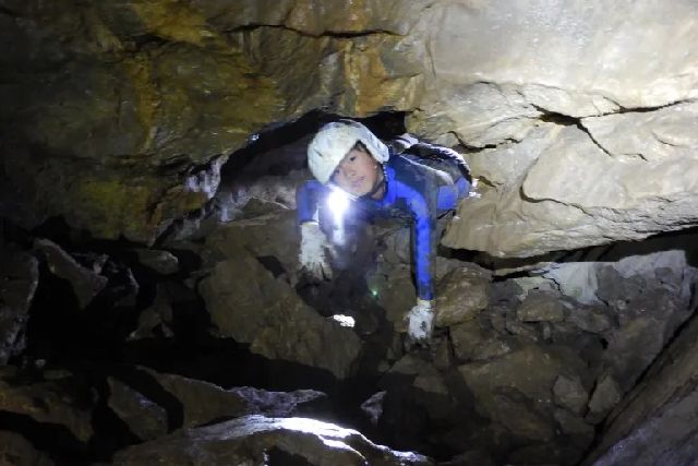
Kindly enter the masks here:
<path id="1" fill-rule="evenodd" d="M 81 309 L 87 307 L 109 282 L 107 277 L 80 265 L 53 241 L 37 239 L 35 249 L 46 258 L 52 274 L 70 282 Z"/>

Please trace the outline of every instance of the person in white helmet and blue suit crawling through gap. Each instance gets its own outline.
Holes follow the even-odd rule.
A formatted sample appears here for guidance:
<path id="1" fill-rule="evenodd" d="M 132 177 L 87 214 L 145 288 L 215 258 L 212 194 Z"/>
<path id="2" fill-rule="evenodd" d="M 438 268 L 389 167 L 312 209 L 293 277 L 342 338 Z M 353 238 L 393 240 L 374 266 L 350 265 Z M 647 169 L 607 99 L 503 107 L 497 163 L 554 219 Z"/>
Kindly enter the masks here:
<path id="1" fill-rule="evenodd" d="M 434 327 L 433 264 L 438 219 L 470 192 L 468 164 L 457 152 L 405 134 L 386 145 L 353 120 L 325 124 L 308 146 L 315 180 L 298 188 L 300 265 L 314 279 L 330 279 L 333 207 L 348 200 L 352 212 L 405 218 L 412 224 L 417 303 L 406 315 L 407 344 L 429 345 Z M 323 215 L 325 212 L 325 215 Z M 332 215 L 335 214 L 335 215 Z"/>

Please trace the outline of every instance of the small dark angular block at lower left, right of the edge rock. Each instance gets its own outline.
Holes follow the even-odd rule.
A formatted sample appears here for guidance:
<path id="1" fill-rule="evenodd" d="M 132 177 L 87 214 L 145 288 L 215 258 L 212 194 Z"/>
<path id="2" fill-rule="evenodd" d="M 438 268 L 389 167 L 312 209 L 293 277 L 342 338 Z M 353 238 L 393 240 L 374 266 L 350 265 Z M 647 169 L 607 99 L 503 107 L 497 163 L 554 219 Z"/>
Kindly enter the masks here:
<path id="1" fill-rule="evenodd" d="M 169 431 L 167 410 L 123 382 L 108 378 L 109 407 L 142 441 Z"/>

